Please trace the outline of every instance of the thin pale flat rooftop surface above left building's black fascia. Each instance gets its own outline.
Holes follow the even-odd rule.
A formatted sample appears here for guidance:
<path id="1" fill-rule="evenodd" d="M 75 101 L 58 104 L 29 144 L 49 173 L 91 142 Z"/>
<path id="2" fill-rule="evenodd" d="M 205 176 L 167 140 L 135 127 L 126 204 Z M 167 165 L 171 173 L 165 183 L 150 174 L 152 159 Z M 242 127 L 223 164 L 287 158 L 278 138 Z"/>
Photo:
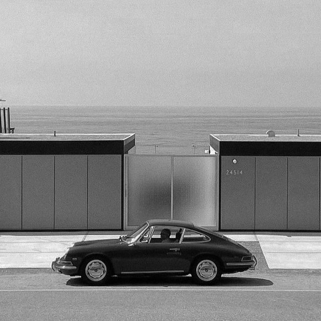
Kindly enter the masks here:
<path id="1" fill-rule="evenodd" d="M 132 137 L 133 133 L 128 134 L 0 134 L 0 140 L 126 140 Z"/>

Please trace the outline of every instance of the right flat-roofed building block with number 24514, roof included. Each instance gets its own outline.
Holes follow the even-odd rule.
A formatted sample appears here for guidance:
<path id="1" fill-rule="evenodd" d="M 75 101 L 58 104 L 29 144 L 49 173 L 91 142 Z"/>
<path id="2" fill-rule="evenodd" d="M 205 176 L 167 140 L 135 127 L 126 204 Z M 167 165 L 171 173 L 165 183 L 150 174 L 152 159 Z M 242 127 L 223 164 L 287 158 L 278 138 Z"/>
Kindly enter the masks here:
<path id="1" fill-rule="evenodd" d="M 219 229 L 319 231 L 321 135 L 211 134 Z"/>

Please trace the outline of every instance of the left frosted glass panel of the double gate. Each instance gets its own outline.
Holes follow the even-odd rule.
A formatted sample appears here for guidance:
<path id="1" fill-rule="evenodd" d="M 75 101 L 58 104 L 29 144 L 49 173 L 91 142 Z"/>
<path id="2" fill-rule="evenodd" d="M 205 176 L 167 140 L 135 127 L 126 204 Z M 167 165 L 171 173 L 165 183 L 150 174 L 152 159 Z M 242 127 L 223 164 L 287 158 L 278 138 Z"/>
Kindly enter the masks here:
<path id="1" fill-rule="evenodd" d="M 171 218 L 171 157 L 128 155 L 128 226 Z"/>

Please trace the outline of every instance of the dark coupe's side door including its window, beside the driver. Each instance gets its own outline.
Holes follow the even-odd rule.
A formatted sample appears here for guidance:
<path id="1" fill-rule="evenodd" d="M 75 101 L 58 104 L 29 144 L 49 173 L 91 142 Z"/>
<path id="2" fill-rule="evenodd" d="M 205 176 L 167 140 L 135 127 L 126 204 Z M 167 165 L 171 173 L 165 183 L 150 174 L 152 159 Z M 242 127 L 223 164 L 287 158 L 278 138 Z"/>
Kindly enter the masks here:
<path id="1" fill-rule="evenodd" d="M 172 237 L 162 242 L 161 232 L 169 229 Z M 179 227 L 153 226 L 122 258 L 121 273 L 182 273 L 188 264 L 182 258 L 180 244 L 176 243 L 175 232 Z"/>

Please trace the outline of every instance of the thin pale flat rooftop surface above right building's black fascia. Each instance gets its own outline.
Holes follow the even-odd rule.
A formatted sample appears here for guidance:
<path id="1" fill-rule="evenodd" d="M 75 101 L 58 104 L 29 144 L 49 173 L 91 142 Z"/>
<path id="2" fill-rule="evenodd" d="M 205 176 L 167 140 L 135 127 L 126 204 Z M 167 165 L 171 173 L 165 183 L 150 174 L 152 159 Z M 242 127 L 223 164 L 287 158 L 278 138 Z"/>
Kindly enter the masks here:
<path id="1" fill-rule="evenodd" d="M 321 141 L 321 135 L 210 134 L 219 141 Z"/>

